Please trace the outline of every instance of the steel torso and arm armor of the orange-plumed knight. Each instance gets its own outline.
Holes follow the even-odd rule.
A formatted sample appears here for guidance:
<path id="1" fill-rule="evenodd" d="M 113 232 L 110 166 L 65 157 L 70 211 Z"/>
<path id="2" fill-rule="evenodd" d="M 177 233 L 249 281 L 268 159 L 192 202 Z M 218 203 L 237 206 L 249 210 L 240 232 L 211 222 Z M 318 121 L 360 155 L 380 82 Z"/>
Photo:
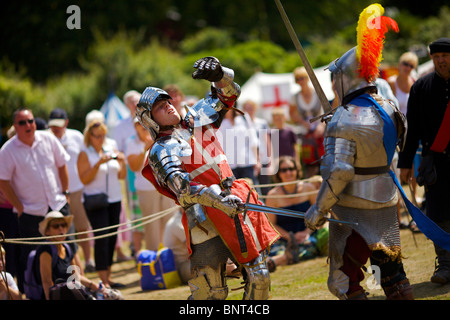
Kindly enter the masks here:
<path id="1" fill-rule="evenodd" d="M 388 103 L 380 102 L 395 121 L 398 132 L 403 133 L 404 128 L 396 119 L 395 110 Z M 339 107 L 328 123 L 326 136 L 321 171 L 339 198 L 339 205 L 376 209 L 396 203 L 397 189 L 388 173 L 359 173 L 360 169 L 387 165 L 383 121 L 375 107 Z M 342 166 L 348 169 L 339 169 Z M 348 176 L 344 177 L 346 174 Z"/>

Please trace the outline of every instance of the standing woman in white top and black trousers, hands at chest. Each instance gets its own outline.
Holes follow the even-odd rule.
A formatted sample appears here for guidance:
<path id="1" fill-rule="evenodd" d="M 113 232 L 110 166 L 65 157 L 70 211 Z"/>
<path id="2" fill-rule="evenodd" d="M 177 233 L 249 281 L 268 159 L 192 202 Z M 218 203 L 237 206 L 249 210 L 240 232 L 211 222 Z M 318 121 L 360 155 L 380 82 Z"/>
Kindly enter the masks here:
<path id="1" fill-rule="evenodd" d="M 77 166 L 81 182 L 85 185 L 84 195 L 106 193 L 108 206 L 101 210 L 86 209 L 92 228 L 99 229 L 117 225 L 120 218 L 122 186 L 120 179 L 126 177 L 125 156 L 117 151 L 117 144 L 106 138 L 108 129 L 103 122 L 93 121 L 84 129 L 85 148 L 78 156 Z M 102 235 L 117 231 L 117 228 L 95 232 Z M 117 235 L 95 240 L 95 267 L 106 287 L 115 288 L 111 282 L 111 265 Z"/>

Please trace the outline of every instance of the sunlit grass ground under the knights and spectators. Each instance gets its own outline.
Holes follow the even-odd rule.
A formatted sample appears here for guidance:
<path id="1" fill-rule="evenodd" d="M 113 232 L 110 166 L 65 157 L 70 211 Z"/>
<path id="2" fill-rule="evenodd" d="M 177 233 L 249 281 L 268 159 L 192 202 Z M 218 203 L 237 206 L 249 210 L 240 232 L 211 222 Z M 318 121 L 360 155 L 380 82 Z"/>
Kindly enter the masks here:
<path id="1" fill-rule="evenodd" d="M 434 247 L 430 240 L 422 234 L 413 234 L 409 230 L 401 230 L 401 242 L 404 256 L 404 267 L 411 282 L 417 300 L 450 300 L 450 284 L 437 285 L 430 282 L 434 271 Z M 417 243 L 417 246 L 416 246 Z M 87 274 L 96 278 L 96 274 Z M 327 258 L 321 257 L 295 265 L 278 267 L 271 273 L 272 300 L 336 300 L 327 289 Z M 134 261 L 115 263 L 113 265 L 113 281 L 126 284 L 121 290 L 126 300 L 185 300 L 190 294 L 187 286 L 167 290 L 142 291 L 139 274 Z M 367 275 L 363 285 L 369 292 L 369 299 L 384 300 L 381 289 L 370 290 L 366 286 Z M 242 280 L 242 279 L 241 279 Z M 228 299 L 240 300 L 242 290 L 231 289 L 241 287 L 239 279 L 228 281 L 230 293 Z M 369 282 L 370 283 L 370 282 Z"/>

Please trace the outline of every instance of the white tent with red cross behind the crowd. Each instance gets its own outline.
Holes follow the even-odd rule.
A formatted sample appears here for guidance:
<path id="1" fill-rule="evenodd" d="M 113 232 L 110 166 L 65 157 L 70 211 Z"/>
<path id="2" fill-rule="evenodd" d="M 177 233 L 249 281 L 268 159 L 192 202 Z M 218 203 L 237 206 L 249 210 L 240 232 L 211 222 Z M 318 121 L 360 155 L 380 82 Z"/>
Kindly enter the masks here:
<path id="1" fill-rule="evenodd" d="M 314 73 L 328 100 L 332 100 L 334 99 L 334 93 L 331 88 L 331 74 L 328 70 L 325 70 L 326 67 L 316 68 Z M 300 86 L 295 83 L 292 72 L 257 72 L 241 87 L 238 107 L 241 107 L 247 100 L 253 100 L 260 106 L 258 116 L 270 123 L 274 108 L 283 108 L 288 116 L 289 101 L 292 95 L 299 91 Z"/>

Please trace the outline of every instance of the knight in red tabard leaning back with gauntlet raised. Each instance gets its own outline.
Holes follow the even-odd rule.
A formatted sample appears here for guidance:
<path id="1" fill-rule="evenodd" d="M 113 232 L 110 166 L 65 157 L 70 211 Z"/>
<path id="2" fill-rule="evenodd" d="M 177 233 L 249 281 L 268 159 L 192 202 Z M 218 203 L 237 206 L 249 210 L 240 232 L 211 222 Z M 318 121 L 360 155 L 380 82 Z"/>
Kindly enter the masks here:
<path id="1" fill-rule="evenodd" d="M 244 211 L 258 203 L 258 194 L 243 179 L 235 179 L 216 131 L 239 97 L 233 70 L 214 57 L 199 59 L 194 79 L 211 82 L 211 94 L 186 116 L 171 105 L 167 92 L 147 87 L 136 116 L 151 133 L 143 175 L 163 195 L 184 210 L 183 225 L 193 278 L 190 299 L 225 299 L 226 263 L 230 258 L 244 276 L 244 299 L 269 298 L 270 277 L 265 258 L 279 234 L 264 213 Z M 250 195 L 249 195 L 250 194 Z"/>

